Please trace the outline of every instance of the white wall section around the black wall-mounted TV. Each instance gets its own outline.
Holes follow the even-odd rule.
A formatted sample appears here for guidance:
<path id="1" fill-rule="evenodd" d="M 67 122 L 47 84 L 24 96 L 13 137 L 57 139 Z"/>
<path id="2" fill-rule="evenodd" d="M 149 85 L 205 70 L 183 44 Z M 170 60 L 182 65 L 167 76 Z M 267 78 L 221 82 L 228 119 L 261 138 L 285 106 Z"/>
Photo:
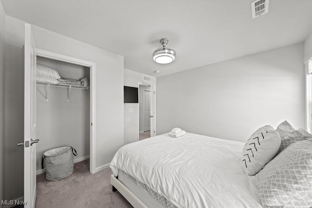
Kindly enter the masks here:
<path id="1" fill-rule="evenodd" d="M 124 86 L 138 87 L 138 83 L 156 85 L 156 77 L 152 76 L 152 81 L 146 82 L 143 76 L 144 74 L 124 69 Z M 138 119 L 138 103 L 124 103 L 124 144 L 138 140 Z"/>

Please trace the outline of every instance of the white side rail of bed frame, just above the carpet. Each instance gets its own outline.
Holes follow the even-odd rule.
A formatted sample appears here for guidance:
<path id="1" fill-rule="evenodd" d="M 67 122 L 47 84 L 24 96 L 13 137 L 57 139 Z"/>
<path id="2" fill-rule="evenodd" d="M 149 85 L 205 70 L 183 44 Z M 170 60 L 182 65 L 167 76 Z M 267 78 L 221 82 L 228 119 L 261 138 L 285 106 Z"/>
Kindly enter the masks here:
<path id="1" fill-rule="evenodd" d="M 134 207 L 148 208 L 137 196 L 127 187 L 125 187 L 113 174 L 111 175 L 111 184 L 113 191 L 118 190 L 119 193 Z M 114 190 L 115 189 L 115 190 Z"/>

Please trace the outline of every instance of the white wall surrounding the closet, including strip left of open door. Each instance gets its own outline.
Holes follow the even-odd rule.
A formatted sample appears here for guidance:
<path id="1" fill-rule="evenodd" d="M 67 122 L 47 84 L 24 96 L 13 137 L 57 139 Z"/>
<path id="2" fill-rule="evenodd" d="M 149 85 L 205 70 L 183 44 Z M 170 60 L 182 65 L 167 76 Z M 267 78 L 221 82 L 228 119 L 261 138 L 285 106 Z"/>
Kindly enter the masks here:
<path id="1" fill-rule="evenodd" d="M 24 22 L 6 17 L 6 199 L 23 195 Z M 96 167 L 108 167 L 123 145 L 123 57 L 51 31 L 32 27 L 36 47 L 96 63 Z"/>

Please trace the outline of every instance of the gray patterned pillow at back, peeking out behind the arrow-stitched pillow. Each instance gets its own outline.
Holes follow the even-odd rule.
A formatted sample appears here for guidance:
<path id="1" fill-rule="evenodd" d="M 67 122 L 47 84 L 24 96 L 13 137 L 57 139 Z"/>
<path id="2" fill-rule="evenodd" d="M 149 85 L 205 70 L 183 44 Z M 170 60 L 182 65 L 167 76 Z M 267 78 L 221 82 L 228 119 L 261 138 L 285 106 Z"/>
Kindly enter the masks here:
<path id="1" fill-rule="evenodd" d="M 284 121 L 278 125 L 276 132 L 278 132 L 281 136 L 281 146 L 279 147 L 277 154 L 279 154 L 292 143 L 305 139 L 305 137 L 299 131 L 295 130 L 287 121 Z"/>

